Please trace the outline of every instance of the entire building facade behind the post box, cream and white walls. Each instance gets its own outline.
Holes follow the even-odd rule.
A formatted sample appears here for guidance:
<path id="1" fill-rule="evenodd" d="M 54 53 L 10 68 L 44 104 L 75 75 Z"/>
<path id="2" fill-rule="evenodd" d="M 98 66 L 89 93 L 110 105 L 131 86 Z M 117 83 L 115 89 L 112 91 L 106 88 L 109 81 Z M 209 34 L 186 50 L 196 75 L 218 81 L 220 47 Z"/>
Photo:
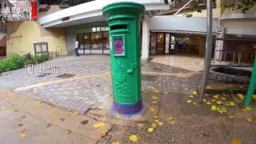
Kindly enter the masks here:
<path id="1" fill-rule="evenodd" d="M 206 47 L 206 10 L 194 12 L 192 18 L 176 14 L 178 8 L 159 0 L 125 0 L 146 7 L 141 20 L 142 58 L 156 54 L 189 54 L 204 57 Z M 47 10 L 38 22 L 10 25 L 7 30 L 7 53 L 34 51 L 34 43 L 48 42 L 50 51 L 75 54 L 74 42 L 79 42 L 79 54 L 109 54 L 110 38 L 102 7 L 117 0 L 95 0 L 64 10 Z M 213 9 L 215 60 L 250 62 L 256 39 L 256 8 L 246 14 L 229 11 L 217 0 Z M 176 10 L 174 10 L 176 8 Z M 242 26 L 242 27 L 241 27 Z M 23 37 L 23 34 L 25 37 Z M 25 40 L 19 40 L 24 38 Z M 18 44 L 20 42 L 20 44 Z"/>

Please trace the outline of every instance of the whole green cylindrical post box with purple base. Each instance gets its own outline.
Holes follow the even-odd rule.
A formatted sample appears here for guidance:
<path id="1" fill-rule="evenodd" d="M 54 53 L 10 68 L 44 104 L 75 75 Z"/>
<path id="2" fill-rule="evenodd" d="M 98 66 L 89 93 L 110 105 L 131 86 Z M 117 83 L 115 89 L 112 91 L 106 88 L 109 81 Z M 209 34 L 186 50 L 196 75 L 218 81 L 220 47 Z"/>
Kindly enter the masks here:
<path id="1" fill-rule="evenodd" d="M 140 18 L 145 7 L 134 2 L 104 6 L 110 32 L 110 59 L 114 111 L 135 114 L 142 110 Z"/>

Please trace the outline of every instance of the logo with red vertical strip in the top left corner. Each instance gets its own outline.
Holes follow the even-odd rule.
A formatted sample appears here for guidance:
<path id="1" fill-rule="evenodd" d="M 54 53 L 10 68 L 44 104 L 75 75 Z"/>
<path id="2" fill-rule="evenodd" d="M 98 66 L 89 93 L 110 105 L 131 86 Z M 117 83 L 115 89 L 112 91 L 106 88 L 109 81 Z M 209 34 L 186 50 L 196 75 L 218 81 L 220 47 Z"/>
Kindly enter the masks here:
<path id="1" fill-rule="evenodd" d="M 38 19 L 38 2 L 31 0 L 2 1 L 1 15 L 6 21 L 28 21 Z"/>

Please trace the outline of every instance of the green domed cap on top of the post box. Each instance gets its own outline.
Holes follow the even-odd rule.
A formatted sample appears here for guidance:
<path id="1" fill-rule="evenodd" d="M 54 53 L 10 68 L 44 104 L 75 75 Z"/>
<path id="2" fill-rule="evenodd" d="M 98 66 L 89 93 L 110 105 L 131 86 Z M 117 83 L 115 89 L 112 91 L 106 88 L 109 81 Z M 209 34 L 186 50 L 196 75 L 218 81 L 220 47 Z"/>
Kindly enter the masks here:
<path id="1" fill-rule="evenodd" d="M 102 8 L 102 14 L 106 17 L 118 14 L 140 15 L 144 12 L 145 6 L 135 2 L 115 2 Z"/>

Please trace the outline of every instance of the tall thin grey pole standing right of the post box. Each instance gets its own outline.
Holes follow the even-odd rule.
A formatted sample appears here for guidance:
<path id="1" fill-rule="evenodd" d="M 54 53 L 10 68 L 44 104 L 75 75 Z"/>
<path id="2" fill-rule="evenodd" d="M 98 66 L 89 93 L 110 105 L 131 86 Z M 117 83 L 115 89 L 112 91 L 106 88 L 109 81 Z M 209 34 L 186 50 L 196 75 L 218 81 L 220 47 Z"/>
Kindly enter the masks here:
<path id="1" fill-rule="evenodd" d="M 212 0 L 207 0 L 206 2 L 207 8 L 207 27 L 206 27 L 206 54 L 205 54 L 205 62 L 202 72 L 201 84 L 199 87 L 199 102 L 202 102 L 202 98 L 205 96 L 206 86 L 209 78 L 210 72 L 210 61 L 213 49 L 213 8 L 212 8 Z"/>

